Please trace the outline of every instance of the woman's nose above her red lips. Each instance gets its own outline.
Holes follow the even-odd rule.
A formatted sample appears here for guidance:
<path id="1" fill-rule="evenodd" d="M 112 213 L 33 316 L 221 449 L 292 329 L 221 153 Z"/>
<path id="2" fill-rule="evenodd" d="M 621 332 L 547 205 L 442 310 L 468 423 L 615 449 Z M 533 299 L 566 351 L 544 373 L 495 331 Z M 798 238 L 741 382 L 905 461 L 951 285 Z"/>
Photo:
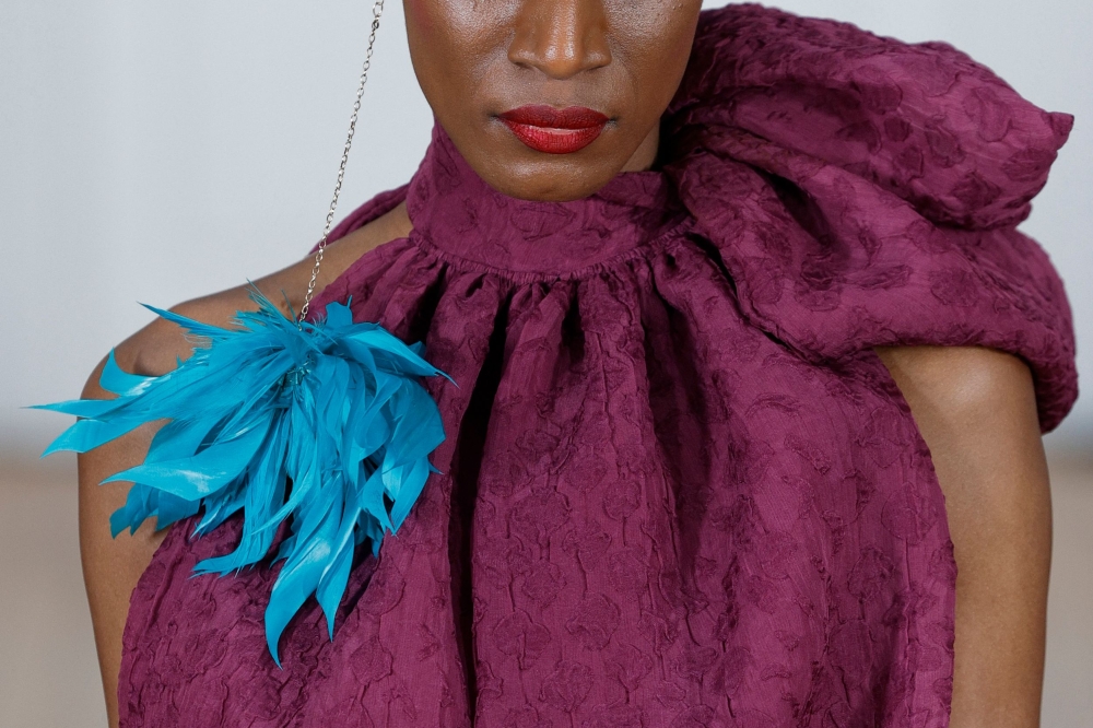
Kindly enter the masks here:
<path id="1" fill-rule="evenodd" d="M 602 0 L 526 0 L 508 59 L 552 79 L 568 79 L 611 62 L 607 35 Z"/>

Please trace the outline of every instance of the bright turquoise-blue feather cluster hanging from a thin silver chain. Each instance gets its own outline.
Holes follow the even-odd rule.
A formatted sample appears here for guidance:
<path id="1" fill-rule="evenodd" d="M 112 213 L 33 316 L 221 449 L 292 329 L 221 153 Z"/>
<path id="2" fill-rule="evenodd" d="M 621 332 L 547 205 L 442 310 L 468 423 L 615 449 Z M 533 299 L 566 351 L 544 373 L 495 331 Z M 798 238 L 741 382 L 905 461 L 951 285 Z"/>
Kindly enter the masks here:
<path id="1" fill-rule="evenodd" d="M 447 375 L 422 357 L 422 344 L 354 324 L 346 305 L 330 303 L 325 319 L 301 326 L 257 290 L 250 297 L 258 310 L 237 313 L 235 329 L 148 306 L 209 345 L 160 377 L 122 372 L 110 352 L 99 383 L 117 399 L 38 409 L 83 418 L 45 455 L 86 453 L 169 420 L 142 465 L 103 481 L 133 483 L 110 527 L 117 536 L 154 516 L 164 528 L 203 507 L 201 535 L 242 512 L 236 550 L 202 561 L 199 574 L 257 564 L 290 521 L 266 609 L 267 643 L 280 665 L 281 633 L 312 595 L 333 638 L 355 548 L 367 542 L 378 553 L 435 472 L 428 456 L 444 427 L 420 378 Z"/>

